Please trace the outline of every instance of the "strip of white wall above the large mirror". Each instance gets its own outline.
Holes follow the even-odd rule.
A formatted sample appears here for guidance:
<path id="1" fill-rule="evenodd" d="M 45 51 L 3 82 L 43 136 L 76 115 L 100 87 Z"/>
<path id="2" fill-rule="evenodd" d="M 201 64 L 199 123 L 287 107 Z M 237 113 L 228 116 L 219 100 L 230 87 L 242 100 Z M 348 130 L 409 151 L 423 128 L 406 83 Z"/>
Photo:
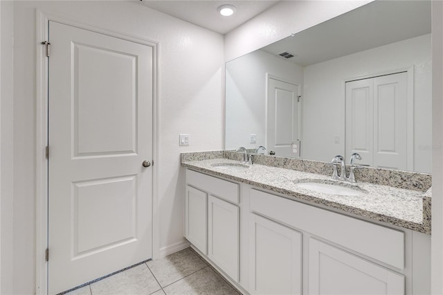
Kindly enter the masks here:
<path id="1" fill-rule="evenodd" d="M 225 35 L 225 60 L 233 60 L 372 1 L 281 1 Z"/>

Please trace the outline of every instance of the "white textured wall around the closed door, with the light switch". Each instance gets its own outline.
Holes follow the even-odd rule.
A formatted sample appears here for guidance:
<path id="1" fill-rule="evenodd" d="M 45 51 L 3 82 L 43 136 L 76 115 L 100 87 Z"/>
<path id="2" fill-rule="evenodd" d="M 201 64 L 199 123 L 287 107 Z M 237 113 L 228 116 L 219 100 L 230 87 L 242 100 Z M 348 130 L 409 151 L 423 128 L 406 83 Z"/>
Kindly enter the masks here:
<path id="1" fill-rule="evenodd" d="M 160 140 L 154 163 L 159 248 L 174 249 L 184 241 L 179 153 L 223 147 L 223 36 L 139 1 L 15 1 L 14 6 L 13 292 L 35 292 L 35 46 L 42 41 L 35 39 L 35 8 L 159 43 Z M 179 133 L 190 134 L 189 147 L 179 147 Z"/>

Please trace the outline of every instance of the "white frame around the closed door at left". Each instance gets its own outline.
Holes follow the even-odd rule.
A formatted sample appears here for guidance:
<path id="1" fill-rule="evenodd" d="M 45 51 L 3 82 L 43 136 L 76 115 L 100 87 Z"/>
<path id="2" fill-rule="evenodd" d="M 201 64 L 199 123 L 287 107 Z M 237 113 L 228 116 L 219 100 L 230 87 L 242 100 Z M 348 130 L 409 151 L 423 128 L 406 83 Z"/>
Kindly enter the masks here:
<path id="1" fill-rule="evenodd" d="M 84 24 L 75 19 L 52 15 L 36 10 L 36 111 L 35 111 L 35 292 L 48 294 L 48 263 L 45 250 L 48 247 L 48 160 L 45 147 L 48 143 L 48 60 L 46 46 L 40 42 L 48 40 L 49 21 L 90 30 L 152 47 L 153 53 L 153 93 L 152 93 L 152 258 L 159 257 L 160 227 L 158 192 L 159 163 L 159 99 L 158 99 L 158 42 L 141 37 L 119 33 L 105 28 Z M 51 256 L 51 254 L 50 254 Z"/>

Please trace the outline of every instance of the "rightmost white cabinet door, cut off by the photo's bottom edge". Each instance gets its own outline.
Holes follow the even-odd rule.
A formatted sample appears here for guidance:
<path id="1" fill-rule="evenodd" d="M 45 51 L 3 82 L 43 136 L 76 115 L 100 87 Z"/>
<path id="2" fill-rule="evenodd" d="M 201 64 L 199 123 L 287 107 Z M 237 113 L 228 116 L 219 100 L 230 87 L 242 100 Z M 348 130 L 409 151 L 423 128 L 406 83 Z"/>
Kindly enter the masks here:
<path id="1" fill-rule="evenodd" d="M 309 294 L 404 294 L 404 284 L 401 274 L 309 240 Z"/>

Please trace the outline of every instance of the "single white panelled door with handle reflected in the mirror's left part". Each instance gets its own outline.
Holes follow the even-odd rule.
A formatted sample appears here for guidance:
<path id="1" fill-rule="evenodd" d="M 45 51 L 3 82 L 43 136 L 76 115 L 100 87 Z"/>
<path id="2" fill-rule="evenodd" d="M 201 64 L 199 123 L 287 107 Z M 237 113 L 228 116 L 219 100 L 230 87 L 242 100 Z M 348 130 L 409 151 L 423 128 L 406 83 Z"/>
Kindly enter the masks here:
<path id="1" fill-rule="evenodd" d="M 278 157 L 296 157 L 293 143 L 300 127 L 299 87 L 268 77 L 266 149 Z"/>

